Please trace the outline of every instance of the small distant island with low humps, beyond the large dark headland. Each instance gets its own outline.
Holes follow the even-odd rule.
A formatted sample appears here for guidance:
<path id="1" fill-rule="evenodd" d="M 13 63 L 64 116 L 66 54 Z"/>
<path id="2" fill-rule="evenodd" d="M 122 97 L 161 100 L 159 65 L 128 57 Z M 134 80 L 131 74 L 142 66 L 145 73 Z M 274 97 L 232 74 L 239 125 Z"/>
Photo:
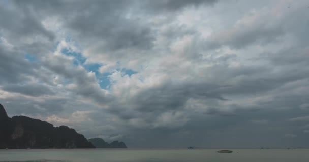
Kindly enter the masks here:
<path id="1" fill-rule="evenodd" d="M 113 141 L 111 143 L 105 142 L 102 138 L 88 139 L 96 148 L 127 148 L 125 142 Z"/>

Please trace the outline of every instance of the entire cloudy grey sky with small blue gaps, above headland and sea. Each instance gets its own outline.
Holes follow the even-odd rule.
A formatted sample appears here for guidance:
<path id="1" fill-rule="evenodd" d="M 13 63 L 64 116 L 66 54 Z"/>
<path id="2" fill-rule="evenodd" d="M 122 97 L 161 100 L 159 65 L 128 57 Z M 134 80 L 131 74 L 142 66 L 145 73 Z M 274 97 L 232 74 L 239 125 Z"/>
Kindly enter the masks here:
<path id="1" fill-rule="evenodd" d="M 128 147 L 309 147 L 308 1 L 0 0 L 0 103 Z"/>

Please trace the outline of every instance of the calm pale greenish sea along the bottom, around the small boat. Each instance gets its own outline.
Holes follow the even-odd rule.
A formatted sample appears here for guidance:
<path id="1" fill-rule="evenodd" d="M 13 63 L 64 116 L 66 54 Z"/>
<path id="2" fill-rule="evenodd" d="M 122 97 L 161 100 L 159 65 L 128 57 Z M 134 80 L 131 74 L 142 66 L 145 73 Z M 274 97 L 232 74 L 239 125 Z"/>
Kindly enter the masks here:
<path id="1" fill-rule="evenodd" d="M 29 149 L 0 150 L 0 161 L 36 162 L 308 162 L 309 149 Z"/>

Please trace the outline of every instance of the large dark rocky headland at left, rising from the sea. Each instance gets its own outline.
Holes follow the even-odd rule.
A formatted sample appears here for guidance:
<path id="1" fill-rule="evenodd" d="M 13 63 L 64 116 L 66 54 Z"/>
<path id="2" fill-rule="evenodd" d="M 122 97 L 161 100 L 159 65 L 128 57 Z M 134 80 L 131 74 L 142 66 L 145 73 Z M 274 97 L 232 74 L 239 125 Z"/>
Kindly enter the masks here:
<path id="1" fill-rule="evenodd" d="M 0 104 L 0 149 L 23 148 L 95 148 L 91 142 L 67 126 L 26 116 L 8 117 Z"/>

